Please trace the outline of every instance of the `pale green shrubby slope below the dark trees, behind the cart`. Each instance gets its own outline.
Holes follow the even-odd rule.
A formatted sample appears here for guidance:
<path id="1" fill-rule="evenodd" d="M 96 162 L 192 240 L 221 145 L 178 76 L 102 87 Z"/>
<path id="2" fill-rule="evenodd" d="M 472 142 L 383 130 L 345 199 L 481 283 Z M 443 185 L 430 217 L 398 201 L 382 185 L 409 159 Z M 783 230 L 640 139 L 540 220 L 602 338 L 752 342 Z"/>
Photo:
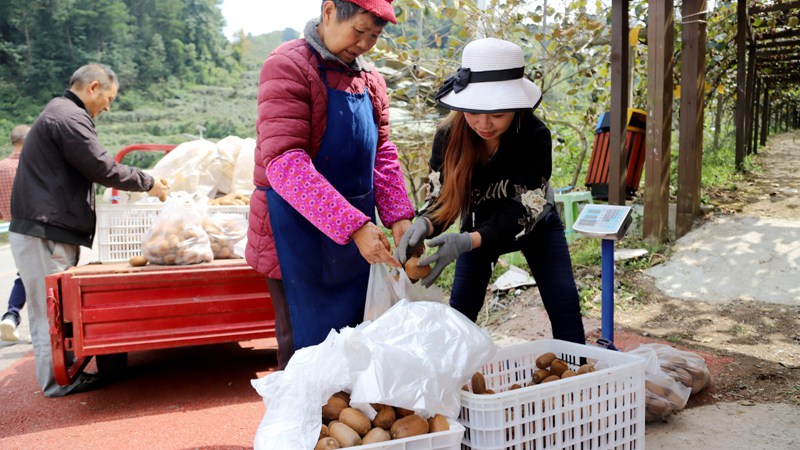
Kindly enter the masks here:
<path id="1" fill-rule="evenodd" d="M 265 35 L 245 36 L 231 44 L 241 52 L 241 67 L 226 71 L 214 85 L 163 82 L 143 91 L 122 88 L 110 112 L 97 120 L 100 142 L 112 154 L 130 144 L 179 144 L 204 138 L 216 141 L 234 135 L 255 138 L 256 92 L 261 64 L 275 47 L 300 33 L 286 29 Z M 37 113 L 44 103 L 37 107 Z M 7 119 L 8 126 L 15 122 Z M 10 128 L 9 131 L 10 132 Z M 11 152 L 0 137 L 0 157 Z M 134 153 L 125 162 L 150 167 L 158 154 Z"/>

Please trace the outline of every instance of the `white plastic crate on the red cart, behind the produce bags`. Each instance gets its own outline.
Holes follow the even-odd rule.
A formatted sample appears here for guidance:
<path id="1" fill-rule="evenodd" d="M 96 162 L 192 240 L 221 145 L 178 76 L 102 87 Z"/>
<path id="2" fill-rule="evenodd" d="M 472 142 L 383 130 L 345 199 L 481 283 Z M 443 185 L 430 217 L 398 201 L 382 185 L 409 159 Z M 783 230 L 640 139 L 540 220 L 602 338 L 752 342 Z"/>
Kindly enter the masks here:
<path id="1" fill-rule="evenodd" d="M 142 254 L 142 237 L 164 208 L 163 203 L 97 205 L 95 246 L 100 262 L 127 261 Z M 208 213 L 250 215 L 248 205 L 210 205 Z"/>

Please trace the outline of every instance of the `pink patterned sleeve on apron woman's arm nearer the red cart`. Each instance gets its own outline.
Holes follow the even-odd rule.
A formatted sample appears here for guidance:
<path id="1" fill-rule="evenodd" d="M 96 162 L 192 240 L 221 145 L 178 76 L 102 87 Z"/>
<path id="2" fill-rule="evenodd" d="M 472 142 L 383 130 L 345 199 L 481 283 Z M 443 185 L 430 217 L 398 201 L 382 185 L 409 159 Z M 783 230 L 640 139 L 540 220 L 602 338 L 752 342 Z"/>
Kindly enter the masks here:
<path id="1" fill-rule="evenodd" d="M 274 158 L 266 172 L 275 192 L 337 244 L 350 242 L 352 234 L 369 222 L 369 217 L 317 172 L 302 150 Z"/>

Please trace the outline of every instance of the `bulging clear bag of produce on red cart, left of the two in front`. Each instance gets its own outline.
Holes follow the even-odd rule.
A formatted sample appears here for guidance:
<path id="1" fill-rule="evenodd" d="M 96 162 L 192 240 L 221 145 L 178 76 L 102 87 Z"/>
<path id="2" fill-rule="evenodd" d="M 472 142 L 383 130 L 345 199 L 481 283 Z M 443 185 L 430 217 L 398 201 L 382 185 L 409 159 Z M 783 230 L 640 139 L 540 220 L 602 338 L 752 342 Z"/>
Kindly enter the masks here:
<path id="1" fill-rule="evenodd" d="M 188 196 L 171 195 L 142 238 L 142 255 L 150 264 L 211 262 L 211 241 L 203 229 L 205 206 Z"/>

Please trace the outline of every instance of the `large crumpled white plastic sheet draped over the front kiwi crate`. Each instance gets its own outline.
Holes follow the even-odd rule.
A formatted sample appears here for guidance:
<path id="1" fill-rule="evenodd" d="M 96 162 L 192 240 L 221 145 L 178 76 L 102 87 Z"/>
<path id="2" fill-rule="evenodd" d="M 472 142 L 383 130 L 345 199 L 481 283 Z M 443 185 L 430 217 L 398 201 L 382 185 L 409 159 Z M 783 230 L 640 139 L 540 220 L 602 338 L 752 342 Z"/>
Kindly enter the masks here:
<path id="1" fill-rule="evenodd" d="M 350 392 L 351 405 L 372 411 L 370 418 L 370 403 L 457 417 L 461 386 L 496 350 L 486 330 L 448 305 L 400 300 L 374 322 L 298 350 L 284 371 L 251 381 L 266 405 L 254 447 L 314 448 L 322 405 L 338 391 Z"/>

